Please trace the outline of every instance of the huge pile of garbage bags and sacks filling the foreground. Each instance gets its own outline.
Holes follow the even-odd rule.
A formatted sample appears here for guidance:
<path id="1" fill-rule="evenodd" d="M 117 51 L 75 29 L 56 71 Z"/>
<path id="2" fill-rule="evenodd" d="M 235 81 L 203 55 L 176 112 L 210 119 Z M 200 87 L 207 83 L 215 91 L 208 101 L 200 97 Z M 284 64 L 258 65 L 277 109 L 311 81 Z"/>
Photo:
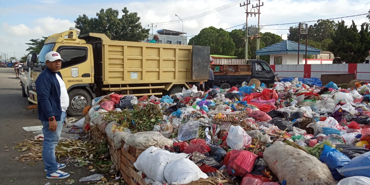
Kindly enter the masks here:
<path id="1" fill-rule="evenodd" d="M 162 98 L 95 98 L 85 130 L 145 150 L 148 184 L 370 184 L 370 84 L 344 89 L 292 78 Z M 243 83 L 246 84 L 246 83 Z"/>

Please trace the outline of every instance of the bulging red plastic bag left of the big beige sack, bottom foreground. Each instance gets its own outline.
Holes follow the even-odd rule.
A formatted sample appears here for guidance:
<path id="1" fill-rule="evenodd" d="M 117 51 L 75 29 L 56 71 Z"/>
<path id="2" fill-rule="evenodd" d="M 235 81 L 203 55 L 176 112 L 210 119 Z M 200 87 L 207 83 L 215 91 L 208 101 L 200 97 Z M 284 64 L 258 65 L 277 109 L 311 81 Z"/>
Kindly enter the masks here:
<path id="1" fill-rule="evenodd" d="M 233 176 L 244 176 L 250 173 L 258 156 L 246 150 L 232 150 L 226 154 L 223 164 Z"/>

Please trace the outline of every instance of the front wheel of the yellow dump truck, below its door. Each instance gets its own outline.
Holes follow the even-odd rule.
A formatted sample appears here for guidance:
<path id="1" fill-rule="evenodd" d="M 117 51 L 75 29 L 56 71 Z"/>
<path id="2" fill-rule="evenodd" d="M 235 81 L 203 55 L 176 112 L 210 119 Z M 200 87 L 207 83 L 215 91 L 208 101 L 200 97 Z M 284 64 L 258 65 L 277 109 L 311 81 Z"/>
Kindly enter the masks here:
<path id="1" fill-rule="evenodd" d="M 67 114 L 73 117 L 83 116 L 83 110 L 86 106 L 91 105 L 92 98 L 90 94 L 82 89 L 74 89 L 68 92 L 70 103 Z"/>

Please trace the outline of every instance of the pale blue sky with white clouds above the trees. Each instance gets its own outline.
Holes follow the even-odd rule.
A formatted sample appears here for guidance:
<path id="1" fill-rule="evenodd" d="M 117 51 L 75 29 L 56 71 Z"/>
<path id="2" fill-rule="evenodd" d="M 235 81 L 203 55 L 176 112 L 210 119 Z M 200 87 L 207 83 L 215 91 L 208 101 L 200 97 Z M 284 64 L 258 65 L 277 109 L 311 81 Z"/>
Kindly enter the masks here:
<path id="1" fill-rule="evenodd" d="M 32 38 L 41 38 L 68 30 L 74 26 L 78 15 L 87 14 L 95 17 L 101 8 L 122 10 L 127 7 L 130 12 L 137 12 L 143 25 L 178 20 L 199 13 L 214 10 L 233 3 L 236 0 L 0 0 L 0 53 L 16 57 L 26 54 L 27 45 Z M 282 24 L 307 20 L 329 19 L 367 13 L 370 0 L 262 0 L 260 24 Z M 256 1 L 253 2 L 256 4 Z M 238 2 L 237 2 L 238 3 Z M 245 10 L 235 4 L 193 20 L 184 21 L 184 32 L 188 36 L 199 33 L 202 28 L 215 26 L 229 28 L 245 23 Z M 257 17 L 249 17 L 249 24 L 257 24 Z M 343 19 L 350 24 L 369 22 L 366 16 Z M 336 20 L 337 21 L 337 20 Z M 262 32 L 269 31 L 286 38 L 289 25 L 266 26 Z M 158 25 L 160 29 L 181 31 L 182 24 Z M 238 26 L 235 28 L 242 28 Z M 231 31 L 229 29 L 228 31 Z M 189 37 L 190 38 L 190 37 Z"/>

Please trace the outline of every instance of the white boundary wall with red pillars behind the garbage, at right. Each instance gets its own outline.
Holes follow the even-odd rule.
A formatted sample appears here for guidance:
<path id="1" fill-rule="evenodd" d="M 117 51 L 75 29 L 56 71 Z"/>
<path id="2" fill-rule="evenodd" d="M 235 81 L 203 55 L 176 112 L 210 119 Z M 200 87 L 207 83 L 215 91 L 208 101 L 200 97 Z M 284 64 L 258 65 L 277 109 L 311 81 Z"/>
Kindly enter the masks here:
<path id="1" fill-rule="evenodd" d="M 356 80 L 370 82 L 370 64 L 300 64 L 270 65 L 279 78 L 321 79 L 322 74 L 355 74 Z"/>

